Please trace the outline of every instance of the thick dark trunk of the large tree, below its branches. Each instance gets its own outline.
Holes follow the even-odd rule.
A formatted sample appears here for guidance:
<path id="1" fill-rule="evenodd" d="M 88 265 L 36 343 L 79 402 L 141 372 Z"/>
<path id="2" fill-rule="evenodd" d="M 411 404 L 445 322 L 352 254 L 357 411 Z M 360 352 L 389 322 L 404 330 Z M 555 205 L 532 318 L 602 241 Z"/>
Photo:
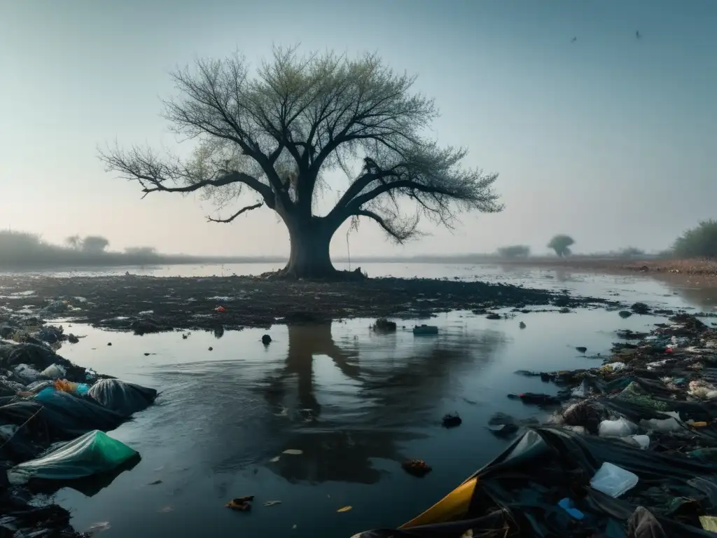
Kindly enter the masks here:
<path id="1" fill-rule="evenodd" d="M 291 255 L 282 273 L 292 278 L 332 278 L 338 271 L 331 263 L 329 245 L 336 230 L 317 217 L 287 222 Z"/>

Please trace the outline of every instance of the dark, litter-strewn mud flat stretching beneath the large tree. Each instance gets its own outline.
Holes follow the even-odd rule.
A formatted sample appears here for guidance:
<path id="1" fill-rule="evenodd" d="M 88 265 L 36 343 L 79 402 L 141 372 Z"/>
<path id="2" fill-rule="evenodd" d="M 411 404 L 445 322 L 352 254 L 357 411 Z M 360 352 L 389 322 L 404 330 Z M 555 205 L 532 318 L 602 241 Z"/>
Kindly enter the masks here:
<path id="1" fill-rule="evenodd" d="M 342 318 L 427 318 L 440 312 L 618 306 L 514 285 L 372 278 L 351 282 L 252 277 L 0 277 L 0 313 L 67 318 L 138 334 L 173 329 L 268 328 Z"/>

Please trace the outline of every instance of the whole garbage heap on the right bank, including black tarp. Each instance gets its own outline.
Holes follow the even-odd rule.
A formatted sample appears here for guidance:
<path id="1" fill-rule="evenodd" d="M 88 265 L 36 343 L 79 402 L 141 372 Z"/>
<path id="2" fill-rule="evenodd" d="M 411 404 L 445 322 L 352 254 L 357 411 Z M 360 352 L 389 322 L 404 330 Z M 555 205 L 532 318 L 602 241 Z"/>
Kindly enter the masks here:
<path id="1" fill-rule="evenodd" d="M 600 367 L 517 372 L 558 385 L 521 398 L 549 424 L 502 415 L 516 439 L 498 458 L 400 529 L 357 536 L 715 536 L 717 331 L 678 314 L 623 336 Z"/>

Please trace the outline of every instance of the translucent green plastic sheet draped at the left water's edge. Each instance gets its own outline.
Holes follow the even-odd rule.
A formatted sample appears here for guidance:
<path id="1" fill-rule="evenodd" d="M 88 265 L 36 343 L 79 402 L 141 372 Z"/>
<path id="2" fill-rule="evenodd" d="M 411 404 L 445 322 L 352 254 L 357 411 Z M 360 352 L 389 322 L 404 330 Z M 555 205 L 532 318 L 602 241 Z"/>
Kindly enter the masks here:
<path id="1" fill-rule="evenodd" d="M 10 483 L 26 483 L 31 478 L 70 480 L 112 471 L 137 455 L 125 443 L 93 430 L 57 450 L 14 466 L 7 472 Z"/>

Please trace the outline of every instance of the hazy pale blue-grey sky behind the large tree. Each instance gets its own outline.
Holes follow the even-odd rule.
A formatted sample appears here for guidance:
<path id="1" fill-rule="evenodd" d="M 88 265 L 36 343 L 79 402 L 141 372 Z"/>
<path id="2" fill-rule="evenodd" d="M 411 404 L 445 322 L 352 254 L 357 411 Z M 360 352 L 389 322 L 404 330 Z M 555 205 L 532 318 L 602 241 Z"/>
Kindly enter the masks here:
<path id="1" fill-rule="evenodd" d="M 288 253 L 270 210 L 219 225 L 193 195 L 141 200 L 96 147 L 175 143 L 160 98 L 176 65 L 301 42 L 416 73 L 439 141 L 500 172 L 502 214 L 465 215 L 453 233 L 426 222 L 432 235 L 406 247 L 364 222 L 351 255 L 542 251 L 557 232 L 576 251 L 661 249 L 717 218 L 716 28 L 717 0 L 0 0 L 0 227 Z M 332 252 L 346 254 L 345 230 Z"/>

